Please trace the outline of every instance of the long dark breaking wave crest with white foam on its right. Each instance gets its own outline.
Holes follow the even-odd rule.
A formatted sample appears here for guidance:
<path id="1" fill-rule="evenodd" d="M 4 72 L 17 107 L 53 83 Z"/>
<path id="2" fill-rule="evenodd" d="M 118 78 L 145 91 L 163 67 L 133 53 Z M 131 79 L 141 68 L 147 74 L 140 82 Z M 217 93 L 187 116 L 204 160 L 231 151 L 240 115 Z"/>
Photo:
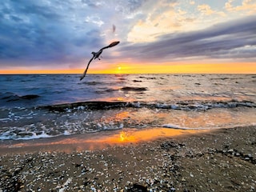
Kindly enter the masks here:
<path id="1" fill-rule="evenodd" d="M 66 110 L 110 110 L 124 107 L 131 108 L 150 108 L 150 109 L 170 109 L 170 110 L 210 110 L 214 108 L 235 108 L 235 107 L 253 107 L 256 103 L 250 101 L 183 101 L 174 103 L 160 102 L 74 102 L 52 106 L 41 106 L 48 110 L 66 111 Z"/>

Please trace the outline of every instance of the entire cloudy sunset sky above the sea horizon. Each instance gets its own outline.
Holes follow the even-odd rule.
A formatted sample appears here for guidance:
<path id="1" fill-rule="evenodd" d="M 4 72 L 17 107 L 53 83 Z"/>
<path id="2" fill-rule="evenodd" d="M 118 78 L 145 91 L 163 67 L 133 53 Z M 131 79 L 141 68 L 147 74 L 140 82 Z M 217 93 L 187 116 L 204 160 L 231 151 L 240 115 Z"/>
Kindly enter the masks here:
<path id="1" fill-rule="evenodd" d="M 3 0 L 0 74 L 256 74 L 256 0 Z"/>

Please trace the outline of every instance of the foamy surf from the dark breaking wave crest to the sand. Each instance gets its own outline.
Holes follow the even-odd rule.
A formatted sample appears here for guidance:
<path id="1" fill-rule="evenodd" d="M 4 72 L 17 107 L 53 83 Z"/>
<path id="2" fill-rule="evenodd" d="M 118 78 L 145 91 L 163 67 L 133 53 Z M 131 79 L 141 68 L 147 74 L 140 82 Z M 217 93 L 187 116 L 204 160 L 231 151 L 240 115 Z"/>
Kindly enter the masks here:
<path id="1" fill-rule="evenodd" d="M 222 114 L 213 108 L 234 108 Z M 245 107 L 248 107 L 246 109 Z M 249 107 L 251 109 L 249 109 Z M 165 127 L 202 130 L 255 125 L 254 102 L 187 101 L 159 102 L 75 102 L 41 108 L 0 110 L 0 140 L 50 138 L 123 128 Z M 181 110 L 181 111 L 177 111 Z M 183 111 L 182 111 L 183 110 Z M 203 111 L 201 110 L 208 110 Z M 242 112 L 242 114 L 241 114 Z M 223 118 L 224 116 L 227 118 Z M 237 116 L 238 115 L 238 116 Z M 242 118 L 236 118 L 240 117 Z M 193 118 L 193 120 L 191 120 Z M 219 121 L 219 118 L 223 118 Z"/>

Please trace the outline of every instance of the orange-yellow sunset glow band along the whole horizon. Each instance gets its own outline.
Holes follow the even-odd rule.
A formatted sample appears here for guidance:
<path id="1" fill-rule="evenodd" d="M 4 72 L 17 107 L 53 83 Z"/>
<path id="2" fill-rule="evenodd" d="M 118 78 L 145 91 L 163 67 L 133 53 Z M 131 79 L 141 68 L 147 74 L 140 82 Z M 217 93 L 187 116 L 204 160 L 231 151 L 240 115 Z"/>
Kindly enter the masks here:
<path id="1" fill-rule="evenodd" d="M 82 74 L 84 69 L 0 70 L 0 74 Z M 256 74 L 256 63 L 118 63 L 91 67 L 88 74 Z"/>

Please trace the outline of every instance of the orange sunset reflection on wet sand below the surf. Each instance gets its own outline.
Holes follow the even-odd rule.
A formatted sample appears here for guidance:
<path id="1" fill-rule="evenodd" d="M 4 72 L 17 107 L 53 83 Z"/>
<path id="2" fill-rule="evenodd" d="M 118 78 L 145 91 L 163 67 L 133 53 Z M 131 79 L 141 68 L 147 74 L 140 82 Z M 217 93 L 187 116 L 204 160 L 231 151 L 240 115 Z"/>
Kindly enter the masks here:
<path id="1" fill-rule="evenodd" d="M 70 135 L 69 137 L 62 136 L 59 138 L 51 138 L 50 140 L 42 139 L 28 142 L 14 141 L 11 145 L 11 149 L 10 146 L 8 146 L 8 149 L 12 151 L 17 150 L 19 152 L 28 149 L 29 151 L 65 151 L 66 153 L 70 153 L 72 151 L 97 150 L 104 149 L 107 146 L 153 141 L 157 138 L 176 137 L 182 134 L 195 134 L 203 131 L 207 130 L 174 130 L 160 127 L 143 130 L 125 129 L 111 135 L 79 134 Z"/>

